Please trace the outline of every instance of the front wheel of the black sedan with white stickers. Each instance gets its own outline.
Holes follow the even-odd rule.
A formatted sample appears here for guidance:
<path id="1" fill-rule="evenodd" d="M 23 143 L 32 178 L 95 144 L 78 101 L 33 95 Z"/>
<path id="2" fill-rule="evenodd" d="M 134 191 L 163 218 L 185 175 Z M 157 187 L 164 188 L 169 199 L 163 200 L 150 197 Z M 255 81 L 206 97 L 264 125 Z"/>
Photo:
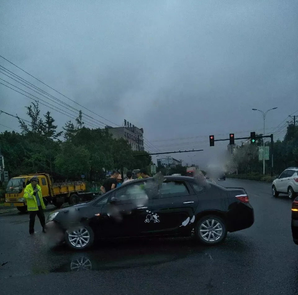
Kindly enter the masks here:
<path id="1" fill-rule="evenodd" d="M 94 233 L 89 226 L 65 232 L 65 242 L 73 249 L 82 250 L 90 247 L 94 241 Z"/>

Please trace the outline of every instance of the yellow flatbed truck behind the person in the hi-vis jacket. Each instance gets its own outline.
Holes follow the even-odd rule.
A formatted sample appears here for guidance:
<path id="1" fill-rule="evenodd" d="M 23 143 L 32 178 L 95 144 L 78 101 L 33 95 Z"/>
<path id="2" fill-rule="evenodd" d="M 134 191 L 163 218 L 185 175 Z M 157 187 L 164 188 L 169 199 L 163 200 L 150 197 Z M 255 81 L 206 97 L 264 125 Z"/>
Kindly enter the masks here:
<path id="1" fill-rule="evenodd" d="M 93 198 L 94 193 L 86 193 L 86 186 L 82 181 L 52 183 L 49 174 L 40 173 L 11 178 L 5 191 L 5 206 L 16 207 L 21 212 L 27 211 L 24 189 L 34 175 L 38 177 L 45 205 L 53 204 L 59 208 L 64 202 L 73 205 Z"/>

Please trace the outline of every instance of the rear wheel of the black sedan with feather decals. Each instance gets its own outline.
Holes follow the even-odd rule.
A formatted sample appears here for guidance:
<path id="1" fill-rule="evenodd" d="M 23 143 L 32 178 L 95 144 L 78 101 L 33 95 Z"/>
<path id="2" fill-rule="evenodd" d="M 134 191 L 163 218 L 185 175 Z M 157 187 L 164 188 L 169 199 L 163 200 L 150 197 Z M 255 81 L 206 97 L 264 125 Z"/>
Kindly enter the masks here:
<path id="1" fill-rule="evenodd" d="M 227 236 L 226 224 L 219 216 L 206 215 L 196 223 L 195 235 L 206 245 L 219 244 Z"/>

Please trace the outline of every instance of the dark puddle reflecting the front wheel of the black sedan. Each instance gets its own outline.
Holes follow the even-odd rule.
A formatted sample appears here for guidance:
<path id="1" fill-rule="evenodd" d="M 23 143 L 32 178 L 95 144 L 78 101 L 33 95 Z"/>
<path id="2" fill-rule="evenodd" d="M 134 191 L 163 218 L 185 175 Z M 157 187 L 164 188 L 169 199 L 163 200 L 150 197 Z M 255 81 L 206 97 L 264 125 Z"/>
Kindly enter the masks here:
<path id="1" fill-rule="evenodd" d="M 158 242 L 158 241 L 156 241 Z M 170 246 L 170 247 L 169 247 Z M 182 247 L 181 247 L 182 246 Z M 73 272 L 86 270 L 112 270 L 140 266 L 159 265 L 184 259 L 193 253 L 193 242 L 178 241 L 163 245 L 154 242 L 107 243 L 102 249 L 70 255 L 70 259 L 50 272 Z"/>

